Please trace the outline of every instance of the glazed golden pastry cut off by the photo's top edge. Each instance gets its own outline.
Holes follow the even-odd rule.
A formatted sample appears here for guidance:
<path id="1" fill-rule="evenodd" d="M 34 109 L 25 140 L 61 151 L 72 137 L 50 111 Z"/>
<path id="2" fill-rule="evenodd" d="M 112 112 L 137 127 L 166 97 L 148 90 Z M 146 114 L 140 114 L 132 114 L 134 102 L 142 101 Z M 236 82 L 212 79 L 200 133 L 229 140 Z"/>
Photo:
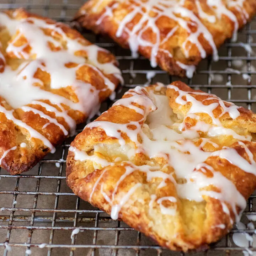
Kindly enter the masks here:
<path id="1" fill-rule="evenodd" d="M 200 60 L 256 12 L 256 0 L 89 0 L 75 17 L 171 75 L 192 77 Z"/>

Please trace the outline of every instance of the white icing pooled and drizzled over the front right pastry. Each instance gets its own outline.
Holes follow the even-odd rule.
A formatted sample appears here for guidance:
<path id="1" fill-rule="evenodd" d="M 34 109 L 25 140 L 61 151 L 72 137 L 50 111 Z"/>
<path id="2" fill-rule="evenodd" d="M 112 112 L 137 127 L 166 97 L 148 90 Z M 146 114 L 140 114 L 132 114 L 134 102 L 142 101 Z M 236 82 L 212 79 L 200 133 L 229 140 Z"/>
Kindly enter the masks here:
<path id="1" fill-rule="evenodd" d="M 162 86 L 163 85 L 158 84 L 155 91 L 161 91 Z M 169 101 L 165 95 L 157 95 L 153 90 L 136 87 L 126 93 L 129 97 L 118 100 L 114 104 L 114 107 L 123 106 L 137 112 L 142 115 L 142 118 L 139 121 L 129 121 L 127 124 L 116 124 L 111 121 L 95 121 L 86 126 L 87 129 L 99 127 L 105 131 L 107 136 L 117 138 L 121 146 L 127 143 L 121 134 L 126 134 L 136 145 L 136 147 L 134 147 L 134 153 L 143 152 L 149 158 L 153 159 L 160 157 L 166 161 L 166 165 L 163 167 L 152 167 L 150 165 L 136 166 L 132 164 L 131 156 L 129 156 L 129 161 L 121 162 L 121 166 L 125 167 L 125 172 L 116 183 L 116 187 L 114 188 L 111 197 L 109 197 L 103 190 L 103 183 L 101 184 L 102 195 L 106 201 L 112 205 L 112 218 L 118 218 L 118 213 L 122 206 L 135 191 L 135 188 L 134 190 L 131 188 L 131 192 L 128 195 L 124 195 L 121 198 L 118 197 L 117 203 L 115 194 L 118 191 L 120 183 L 123 182 L 128 175 L 132 174 L 135 170 L 138 170 L 146 173 L 147 181 L 150 181 L 152 178 L 160 178 L 161 180 L 158 189 L 165 187 L 165 181 L 167 179 L 170 180 L 176 186 L 179 198 L 185 198 L 196 202 L 201 202 L 205 200 L 206 197 L 218 199 L 222 204 L 223 212 L 230 216 L 229 205 L 235 214 L 236 222 L 238 222 L 242 210 L 246 207 L 245 198 L 236 189 L 233 182 L 223 176 L 221 172 L 214 170 L 213 167 L 206 164 L 205 161 L 210 156 L 218 156 L 219 158 L 228 160 L 232 165 L 239 167 L 241 170 L 256 175 L 256 163 L 253 155 L 245 142 L 241 141 L 238 142 L 238 145 L 245 150 L 249 161 L 240 156 L 234 148 L 223 147 L 220 150 L 209 152 L 204 150 L 204 146 L 209 143 L 214 148 L 218 149 L 219 145 L 212 142 L 211 138 L 221 135 L 232 136 L 237 140 L 251 140 L 251 136 L 237 134 L 233 129 L 223 127 L 220 122 L 220 117 L 225 113 L 229 114 L 232 119 L 238 118 L 240 116 L 239 107 L 233 103 L 227 103 L 215 95 L 209 95 L 204 92 L 182 91 L 175 85 L 168 85 L 167 88 L 178 92 L 175 101 L 180 104 L 180 106 L 184 106 L 188 102 L 191 103 L 190 109 L 183 117 L 182 123 L 175 121 L 175 114 L 169 107 Z M 210 103 L 209 105 L 204 105 L 201 101 L 198 101 L 193 97 L 197 95 L 207 96 L 203 102 L 209 100 L 214 100 L 215 102 Z M 218 117 L 215 117 L 213 111 L 218 106 L 221 106 L 222 113 Z M 207 124 L 200 120 L 199 114 L 201 113 L 207 114 L 212 119 L 212 124 Z M 196 126 L 190 128 L 185 127 L 184 122 L 187 117 L 195 119 L 197 121 Z M 133 130 L 128 129 L 127 126 L 131 124 L 136 128 Z M 201 138 L 200 132 L 206 133 L 206 138 Z M 142 143 L 138 141 L 138 135 L 140 135 L 139 137 L 142 139 Z M 198 140 L 201 140 L 199 146 L 196 145 Z M 80 151 L 73 147 L 71 147 L 70 150 L 75 153 L 76 160 L 86 161 L 91 159 L 92 161 L 96 161 L 101 168 L 104 167 L 104 164 L 101 164 L 102 160 L 105 161 L 104 159 L 97 159 L 96 155 L 88 156 L 84 151 L 80 155 Z M 106 162 L 106 166 L 111 164 L 118 165 L 119 163 Z M 172 174 L 167 174 L 163 171 L 166 166 L 173 167 L 176 178 L 185 179 L 186 182 L 177 183 Z M 106 170 L 107 169 L 102 171 L 100 177 L 94 184 L 90 194 L 90 201 L 92 200 L 94 191 L 99 185 Z M 206 175 L 208 172 L 211 173 L 210 176 Z M 210 185 L 218 188 L 218 192 L 206 190 Z M 177 198 L 173 195 L 166 195 L 166 197 L 162 198 L 157 198 L 156 195 L 151 195 L 149 203 L 150 210 L 152 210 L 153 204 L 155 206 L 156 202 L 162 214 L 175 215 L 176 206 L 164 207 L 162 205 L 162 201 L 164 200 L 169 200 L 175 203 Z M 237 212 L 237 206 L 241 211 Z M 233 223 L 231 217 L 230 222 Z M 225 228 L 224 223 L 219 223 L 218 228 Z"/>

